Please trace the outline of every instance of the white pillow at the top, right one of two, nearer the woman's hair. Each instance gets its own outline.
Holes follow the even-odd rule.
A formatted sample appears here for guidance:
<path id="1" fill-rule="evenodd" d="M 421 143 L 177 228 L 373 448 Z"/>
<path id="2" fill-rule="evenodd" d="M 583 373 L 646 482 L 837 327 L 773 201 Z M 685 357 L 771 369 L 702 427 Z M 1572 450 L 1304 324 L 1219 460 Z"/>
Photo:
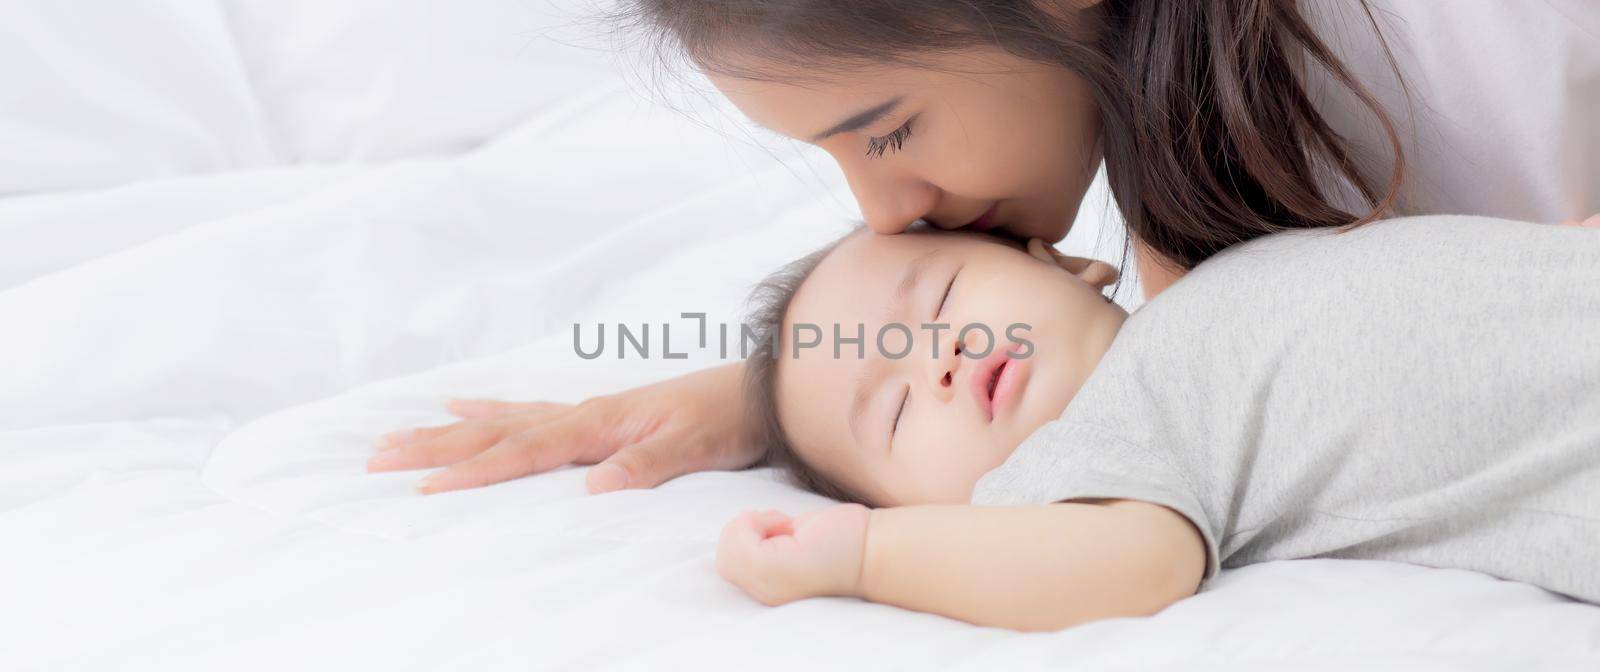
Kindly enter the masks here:
<path id="1" fill-rule="evenodd" d="M 291 162 L 456 154 L 611 77 L 595 0 L 224 2 Z"/>

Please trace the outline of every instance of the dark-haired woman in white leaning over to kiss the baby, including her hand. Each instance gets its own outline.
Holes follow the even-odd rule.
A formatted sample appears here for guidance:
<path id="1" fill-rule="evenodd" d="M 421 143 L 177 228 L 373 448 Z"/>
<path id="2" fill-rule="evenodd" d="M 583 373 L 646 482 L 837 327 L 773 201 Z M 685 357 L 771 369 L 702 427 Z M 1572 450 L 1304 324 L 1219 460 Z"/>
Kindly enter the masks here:
<path id="1" fill-rule="evenodd" d="M 1590 0 L 626 6 L 752 120 L 827 150 L 880 234 L 1059 240 L 1104 162 L 1147 294 L 1275 230 L 1600 210 Z M 437 493 L 600 462 L 598 493 L 746 467 L 762 450 L 731 411 L 741 370 L 578 405 L 451 402 L 461 422 L 390 434 L 368 469 L 450 466 L 419 483 Z"/>

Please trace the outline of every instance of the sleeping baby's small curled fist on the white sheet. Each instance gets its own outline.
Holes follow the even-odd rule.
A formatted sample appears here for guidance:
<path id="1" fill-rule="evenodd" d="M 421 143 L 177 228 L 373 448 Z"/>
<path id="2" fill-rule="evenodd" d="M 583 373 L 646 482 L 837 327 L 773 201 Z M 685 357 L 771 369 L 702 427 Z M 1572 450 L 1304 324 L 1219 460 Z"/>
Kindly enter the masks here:
<path id="1" fill-rule="evenodd" d="M 870 510 L 838 504 L 790 518 L 747 510 L 722 530 L 717 573 L 763 605 L 859 595 Z"/>

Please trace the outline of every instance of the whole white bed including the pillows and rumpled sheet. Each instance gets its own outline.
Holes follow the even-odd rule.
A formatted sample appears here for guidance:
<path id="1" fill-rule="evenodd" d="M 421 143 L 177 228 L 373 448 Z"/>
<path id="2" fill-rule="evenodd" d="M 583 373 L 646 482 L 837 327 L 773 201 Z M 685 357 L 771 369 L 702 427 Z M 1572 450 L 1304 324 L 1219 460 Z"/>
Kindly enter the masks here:
<path id="1" fill-rule="evenodd" d="M 450 395 L 715 363 L 682 314 L 736 325 L 848 190 L 574 38 L 581 2 L 34 5 L 0 10 L 3 669 L 1600 669 L 1600 608 L 1466 571 L 1267 563 L 1016 634 L 746 598 L 722 525 L 829 504 L 770 470 L 368 475 Z M 1117 256 L 1086 202 L 1066 246 Z M 618 323 L 688 357 L 574 352 Z"/>

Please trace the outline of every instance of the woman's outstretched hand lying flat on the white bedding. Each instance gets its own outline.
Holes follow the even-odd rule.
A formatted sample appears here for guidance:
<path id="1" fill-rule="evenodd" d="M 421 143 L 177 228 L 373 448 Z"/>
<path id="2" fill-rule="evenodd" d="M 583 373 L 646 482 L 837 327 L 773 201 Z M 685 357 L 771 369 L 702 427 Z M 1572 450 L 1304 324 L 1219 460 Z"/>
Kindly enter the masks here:
<path id="1" fill-rule="evenodd" d="M 742 469 L 760 458 L 739 437 L 742 371 L 723 365 L 578 405 L 456 400 L 459 422 L 381 437 L 366 470 L 448 467 L 418 483 L 430 494 L 573 462 L 600 462 L 589 470 L 590 493 Z"/>

